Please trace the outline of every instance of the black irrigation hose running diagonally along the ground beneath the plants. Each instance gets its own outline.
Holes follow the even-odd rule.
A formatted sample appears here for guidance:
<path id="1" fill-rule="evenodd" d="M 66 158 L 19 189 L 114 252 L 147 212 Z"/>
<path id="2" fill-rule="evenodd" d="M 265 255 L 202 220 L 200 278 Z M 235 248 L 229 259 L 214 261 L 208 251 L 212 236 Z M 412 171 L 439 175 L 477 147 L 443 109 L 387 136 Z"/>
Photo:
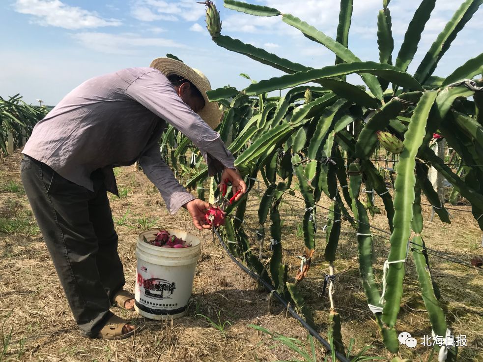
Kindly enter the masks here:
<path id="1" fill-rule="evenodd" d="M 220 233 L 218 232 L 218 230 L 215 230 L 215 234 L 216 236 L 218 237 L 218 240 L 220 240 L 220 243 L 222 244 L 223 248 L 225 249 L 225 251 L 227 252 L 228 256 L 230 257 L 230 259 L 243 271 L 245 271 L 248 275 L 250 275 L 250 277 L 252 277 L 254 280 L 256 280 L 256 282 L 260 283 L 263 285 L 263 287 L 268 291 L 270 292 L 279 302 L 281 302 L 285 308 L 287 308 L 287 310 L 290 312 L 290 314 L 292 315 L 292 317 L 294 317 L 297 321 L 300 322 L 300 324 L 311 334 L 313 335 L 315 338 L 317 338 L 317 340 L 322 343 L 322 345 L 330 352 L 332 353 L 332 347 L 330 345 L 330 343 L 328 341 L 326 341 L 324 338 L 322 338 L 322 336 L 317 333 L 311 326 L 309 326 L 307 324 L 307 322 L 300 316 L 298 315 L 298 313 L 295 311 L 295 309 L 288 305 L 287 302 L 285 302 L 285 300 L 280 296 L 280 294 L 277 293 L 277 291 L 275 289 L 272 288 L 272 286 L 270 284 L 268 284 L 265 280 L 261 279 L 258 275 L 256 275 L 256 273 L 254 273 L 253 271 L 251 271 L 250 269 L 248 269 L 247 267 L 245 267 L 242 263 L 240 263 L 234 256 L 233 254 L 230 253 L 230 251 L 228 250 L 227 248 L 227 245 L 225 244 L 225 242 L 223 241 L 222 237 L 220 236 Z M 336 352 L 336 357 L 339 359 L 339 361 L 341 362 L 350 362 L 344 355 L 342 355 L 340 352 L 338 351 L 335 351 Z"/>

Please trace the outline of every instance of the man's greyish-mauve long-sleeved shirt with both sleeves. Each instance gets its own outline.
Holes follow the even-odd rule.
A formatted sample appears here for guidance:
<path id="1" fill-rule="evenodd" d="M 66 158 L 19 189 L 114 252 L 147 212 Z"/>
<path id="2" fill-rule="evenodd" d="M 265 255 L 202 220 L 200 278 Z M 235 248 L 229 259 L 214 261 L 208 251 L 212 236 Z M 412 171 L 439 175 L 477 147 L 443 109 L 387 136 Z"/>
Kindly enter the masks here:
<path id="1" fill-rule="evenodd" d="M 102 169 L 108 191 L 115 194 L 113 167 L 139 160 L 174 213 L 195 197 L 161 159 L 159 139 L 166 122 L 199 148 L 210 176 L 224 167 L 234 168 L 234 158 L 220 135 L 154 68 L 128 68 L 87 80 L 35 125 L 23 153 L 89 190 L 93 190 L 91 173 Z"/>

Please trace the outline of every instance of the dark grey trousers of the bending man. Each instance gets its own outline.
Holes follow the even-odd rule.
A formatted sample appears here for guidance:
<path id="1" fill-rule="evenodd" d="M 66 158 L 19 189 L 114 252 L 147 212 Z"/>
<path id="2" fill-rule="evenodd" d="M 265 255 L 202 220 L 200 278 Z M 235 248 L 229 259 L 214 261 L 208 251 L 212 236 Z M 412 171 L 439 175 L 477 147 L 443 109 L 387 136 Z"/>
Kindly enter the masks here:
<path id="1" fill-rule="evenodd" d="M 112 316 L 113 296 L 125 283 L 102 173 L 92 173 L 92 192 L 26 155 L 20 169 L 81 334 L 95 337 Z"/>

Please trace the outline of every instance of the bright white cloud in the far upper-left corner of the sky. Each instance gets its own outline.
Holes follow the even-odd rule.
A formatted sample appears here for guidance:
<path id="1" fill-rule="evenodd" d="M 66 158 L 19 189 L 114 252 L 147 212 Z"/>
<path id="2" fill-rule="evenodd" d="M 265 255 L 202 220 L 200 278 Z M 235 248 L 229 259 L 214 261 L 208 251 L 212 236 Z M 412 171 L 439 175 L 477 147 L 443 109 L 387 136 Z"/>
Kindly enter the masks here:
<path id="1" fill-rule="evenodd" d="M 33 15 L 34 22 L 42 26 L 65 29 L 99 28 L 119 26 L 116 19 L 104 19 L 96 12 L 66 5 L 59 0 L 16 0 L 15 11 Z"/>

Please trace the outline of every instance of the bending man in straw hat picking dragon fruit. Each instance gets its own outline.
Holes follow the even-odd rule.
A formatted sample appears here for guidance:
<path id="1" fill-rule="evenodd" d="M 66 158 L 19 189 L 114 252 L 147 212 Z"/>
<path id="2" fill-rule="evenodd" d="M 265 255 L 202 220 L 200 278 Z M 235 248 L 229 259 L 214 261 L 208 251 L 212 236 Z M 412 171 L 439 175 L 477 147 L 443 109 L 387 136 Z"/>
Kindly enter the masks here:
<path id="1" fill-rule="evenodd" d="M 246 184 L 233 156 L 213 131 L 221 112 L 198 70 L 169 58 L 92 78 L 67 94 L 34 127 L 21 161 L 22 182 L 81 335 L 121 339 L 135 327 L 115 316 L 134 310 L 123 290 L 117 234 L 106 191 L 118 194 L 113 167 L 139 161 L 171 213 L 181 207 L 199 229 L 205 210 L 161 159 L 160 137 L 172 124 L 199 148 L 208 174 L 222 173 L 233 191 Z M 241 194 L 237 197 L 239 199 Z"/>

